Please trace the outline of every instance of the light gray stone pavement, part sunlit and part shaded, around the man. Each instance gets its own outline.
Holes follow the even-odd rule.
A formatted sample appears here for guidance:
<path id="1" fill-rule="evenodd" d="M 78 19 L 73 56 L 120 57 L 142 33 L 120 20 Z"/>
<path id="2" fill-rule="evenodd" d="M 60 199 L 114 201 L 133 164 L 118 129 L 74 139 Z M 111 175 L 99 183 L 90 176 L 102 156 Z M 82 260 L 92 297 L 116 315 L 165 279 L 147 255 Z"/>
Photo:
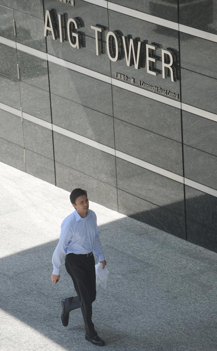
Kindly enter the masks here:
<path id="1" fill-rule="evenodd" d="M 60 225 L 73 211 L 69 192 L 4 163 L 0 189 L 0 350 L 99 348 L 84 339 L 80 310 L 61 323 L 61 299 L 76 294 L 64 264 L 59 283 L 50 280 Z M 90 208 L 109 270 L 108 289 L 93 303 L 103 350 L 216 351 L 217 254 Z"/>

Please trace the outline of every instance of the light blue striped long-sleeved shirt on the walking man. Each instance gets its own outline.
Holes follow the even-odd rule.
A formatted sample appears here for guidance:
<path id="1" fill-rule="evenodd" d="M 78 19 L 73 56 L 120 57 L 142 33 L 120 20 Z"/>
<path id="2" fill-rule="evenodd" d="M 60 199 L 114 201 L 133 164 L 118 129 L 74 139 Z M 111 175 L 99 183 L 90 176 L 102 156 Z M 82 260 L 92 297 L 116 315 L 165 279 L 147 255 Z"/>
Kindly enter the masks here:
<path id="1" fill-rule="evenodd" d="M 104 261 L 96 224 L 96 214 L 88 209 L 82 218 L 77 210 L 69 214 L 61 224 L 60 240 L 52 256 L 53 274 L 60 274 L 61 262 L 68 253 L 89 253 L 93 251 L 99 261 Z"/>

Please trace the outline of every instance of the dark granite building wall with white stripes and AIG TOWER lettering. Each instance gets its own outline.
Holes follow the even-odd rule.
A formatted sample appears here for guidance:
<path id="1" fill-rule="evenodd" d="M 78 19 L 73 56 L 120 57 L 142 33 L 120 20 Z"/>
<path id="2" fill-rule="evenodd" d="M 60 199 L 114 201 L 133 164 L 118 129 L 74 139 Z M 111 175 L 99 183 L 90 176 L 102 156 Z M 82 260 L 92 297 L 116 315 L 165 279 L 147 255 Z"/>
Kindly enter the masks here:
<path id="1" fill-rule="evenodd" d="M 0 0 L 0 161 L 217 252 L 217 2 Z"/>

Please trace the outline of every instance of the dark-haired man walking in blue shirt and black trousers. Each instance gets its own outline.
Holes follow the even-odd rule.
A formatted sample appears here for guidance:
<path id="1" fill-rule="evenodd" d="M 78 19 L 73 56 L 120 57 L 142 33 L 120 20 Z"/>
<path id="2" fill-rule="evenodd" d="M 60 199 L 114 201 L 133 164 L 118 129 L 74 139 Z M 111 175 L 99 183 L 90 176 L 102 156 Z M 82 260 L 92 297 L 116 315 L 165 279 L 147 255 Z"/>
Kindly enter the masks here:
<path id="1" fill-rule="evenodd" d="M 60 240 L 52 257 L 51 280 L 56 284 L 60 279 L 61 262 L 66 255 L 65 267 L 73 280 L 77 296 L 62 300 L 62 324 L 68 325 L 70 311 L 81 308 L 86 331 L 85 339 L 94 345 L 103 346 L 105 342 L 97 335 L 91 319 L 92 302 L 96 299 L 93 253 L 102 263 L 103 269 L 106 265 L 96 224 L 96 214 L 89 210 L 86 190 L 74 189 L 70 194 L 70 201 L 75 210 L 62 221 Z"/>

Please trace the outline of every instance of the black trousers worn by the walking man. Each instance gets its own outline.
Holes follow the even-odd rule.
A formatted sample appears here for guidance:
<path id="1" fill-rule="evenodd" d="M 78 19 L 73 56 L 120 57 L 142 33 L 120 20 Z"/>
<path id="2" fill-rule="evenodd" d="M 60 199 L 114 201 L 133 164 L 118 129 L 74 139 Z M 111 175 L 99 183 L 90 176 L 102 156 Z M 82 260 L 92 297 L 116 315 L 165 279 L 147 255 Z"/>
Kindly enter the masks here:
<path id="1" fill-rule="evenodd" d="M 95 260 L 91 256 L 68 253 L 65 267 L 73 280 L 77 296 L 65 298 L 65 313 L 81 308 L 87 335 L 94 338 L 97 332 L 92 322 L 92 302 L 96 299 Z"/>

